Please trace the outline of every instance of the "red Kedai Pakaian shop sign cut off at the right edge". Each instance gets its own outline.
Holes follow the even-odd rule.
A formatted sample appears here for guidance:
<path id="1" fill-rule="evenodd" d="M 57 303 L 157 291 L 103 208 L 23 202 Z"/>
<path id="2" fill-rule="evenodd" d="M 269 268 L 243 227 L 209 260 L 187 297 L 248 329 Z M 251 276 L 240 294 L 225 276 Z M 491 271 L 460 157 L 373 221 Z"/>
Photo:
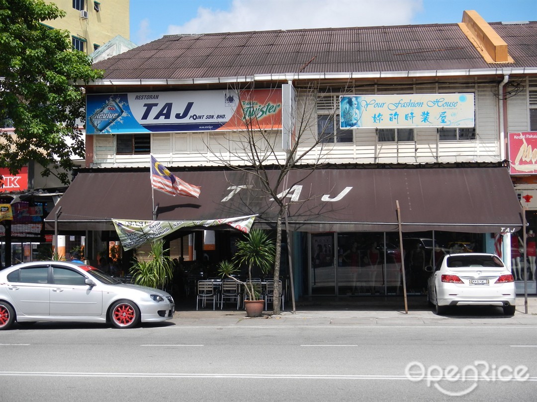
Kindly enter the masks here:
<path id="1" fill-rule="evenodd" d="M 537 173 L 537 131 L 509 133 L 510 173 Z"/>

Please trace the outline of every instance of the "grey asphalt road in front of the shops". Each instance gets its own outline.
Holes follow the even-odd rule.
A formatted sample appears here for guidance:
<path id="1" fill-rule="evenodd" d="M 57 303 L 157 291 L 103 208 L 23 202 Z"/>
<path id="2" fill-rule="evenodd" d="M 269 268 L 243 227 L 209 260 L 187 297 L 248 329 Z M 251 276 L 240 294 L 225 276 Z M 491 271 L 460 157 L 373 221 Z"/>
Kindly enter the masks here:
<path id="1" fill-rule="evenodd" d="M 204 313 L 132 330 L 37 323 L 0 332 L 0 401 L 534 401 L 537 394 L 535 315 L 382 312 L 371 321 L 371 311 L 330 319 Z"/>

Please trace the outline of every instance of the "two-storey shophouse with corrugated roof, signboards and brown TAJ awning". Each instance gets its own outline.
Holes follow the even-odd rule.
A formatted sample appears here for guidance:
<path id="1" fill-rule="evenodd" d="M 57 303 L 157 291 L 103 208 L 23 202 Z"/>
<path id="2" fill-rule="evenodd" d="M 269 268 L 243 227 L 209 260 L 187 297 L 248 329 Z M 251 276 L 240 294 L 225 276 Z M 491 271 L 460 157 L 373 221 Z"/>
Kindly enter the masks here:
<path id="1" fill-rule="evenodd" d="M 519 247 L 537 222 L 513 188 L 533 190 L 534 176 L 509 169 L 534 163 L 536 22 L 468 11 L 460 24 L 170 35 L 95 66 L 106 73 L 86 87 L 86 168 L 47 218 L 60 233 L 98 243 L 117 240 L 113 219 L 257 215 L 274 229 L 279 217 L 298 297 L 398 294 L 403 272 L 425 293 L 424 267 L 447 250 L 497 252 L 535 292 Z M 199 199 L 151 191 L 150 154 L 201 185 Z M 287 162 L 263 192 L 251 170 L 275 183 Z M 209 251 L 208 232 L 170 231 L 172 257 L 214 270 L 238 235 L 217 230 Z"/>

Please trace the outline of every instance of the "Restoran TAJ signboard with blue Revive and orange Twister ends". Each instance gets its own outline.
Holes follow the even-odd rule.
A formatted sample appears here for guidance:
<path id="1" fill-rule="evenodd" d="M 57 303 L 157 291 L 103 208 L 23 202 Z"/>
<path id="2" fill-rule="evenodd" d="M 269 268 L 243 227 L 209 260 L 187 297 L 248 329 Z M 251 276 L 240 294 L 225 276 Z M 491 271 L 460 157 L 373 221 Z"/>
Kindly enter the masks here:
<path id="1" fill-rule="evenodd" d="M 86 95 L 86 133 L 281 129 L 281 89 Z"/>

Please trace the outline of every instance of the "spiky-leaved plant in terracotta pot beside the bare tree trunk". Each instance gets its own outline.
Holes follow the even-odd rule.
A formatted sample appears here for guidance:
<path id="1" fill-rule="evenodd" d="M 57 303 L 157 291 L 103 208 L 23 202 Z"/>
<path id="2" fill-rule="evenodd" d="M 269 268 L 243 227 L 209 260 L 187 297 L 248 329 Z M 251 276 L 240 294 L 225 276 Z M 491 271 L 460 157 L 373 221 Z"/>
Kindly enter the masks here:
<path id="1" fill-rule="evenodd" d="M 237 251 L 233 262 L 227 260 L 219 264 L 218 272 L 222 277 L 234 279 L 244 287 L 248 300 L 244 300 L 244 307 L 248 317 L 259 317 L 263 312 L 264 300 L 260 299 L 259 289 L 252 283 L 252 267 L 258 266 L 263 273 L 269 273 L 274 263 L 274 241 L 264 230 L 252 229 L 244 240 L 237 241 Z M 238 266 L 248 265 L 248 281 L 237 279 L 233 274 L 238 272 Z"/>

